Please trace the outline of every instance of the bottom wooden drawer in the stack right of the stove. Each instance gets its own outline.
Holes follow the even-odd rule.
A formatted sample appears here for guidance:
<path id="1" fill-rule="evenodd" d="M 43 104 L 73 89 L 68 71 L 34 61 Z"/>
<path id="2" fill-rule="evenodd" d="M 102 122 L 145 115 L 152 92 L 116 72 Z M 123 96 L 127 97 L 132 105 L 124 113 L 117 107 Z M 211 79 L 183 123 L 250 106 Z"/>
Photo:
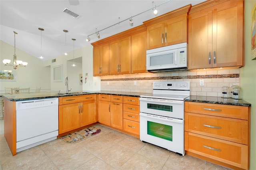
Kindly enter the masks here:
<path id="1" fill-rule="evenodd" d="M 248 169 L 248 146 L 185 132 L 185 150 Z"/>

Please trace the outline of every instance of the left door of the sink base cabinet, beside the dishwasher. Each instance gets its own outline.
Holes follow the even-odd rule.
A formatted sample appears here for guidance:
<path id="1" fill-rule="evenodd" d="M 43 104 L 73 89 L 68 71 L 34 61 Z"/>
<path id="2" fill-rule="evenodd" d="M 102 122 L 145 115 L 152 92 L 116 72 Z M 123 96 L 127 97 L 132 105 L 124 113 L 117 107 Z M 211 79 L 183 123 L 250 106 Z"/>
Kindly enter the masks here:
<path id="1" fill-rule="evenodd" d="M 59 106 L 59 134 L 80 128 L 80 103 Z"/>

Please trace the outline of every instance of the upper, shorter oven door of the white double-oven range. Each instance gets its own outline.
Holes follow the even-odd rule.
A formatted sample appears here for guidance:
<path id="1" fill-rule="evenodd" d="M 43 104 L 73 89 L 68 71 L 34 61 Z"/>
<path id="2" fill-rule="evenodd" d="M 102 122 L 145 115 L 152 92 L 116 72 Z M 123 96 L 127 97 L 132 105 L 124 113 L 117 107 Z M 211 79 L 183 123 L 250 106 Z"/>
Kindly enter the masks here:
<path id="1" fill-rule="evenodd" d="M 140 112 L 184 119 L 184 101 L 140 98 Z"/>

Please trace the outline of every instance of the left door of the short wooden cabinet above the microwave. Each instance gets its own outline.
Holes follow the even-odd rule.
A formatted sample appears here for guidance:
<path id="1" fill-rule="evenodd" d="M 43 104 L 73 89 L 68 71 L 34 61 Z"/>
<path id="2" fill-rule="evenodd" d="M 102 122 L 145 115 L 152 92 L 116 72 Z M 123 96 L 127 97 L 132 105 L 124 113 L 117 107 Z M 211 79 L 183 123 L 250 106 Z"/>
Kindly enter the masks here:
<path id="1" fill-rule="evenodd" d="M 164 22 L 147 28 L 147 50 L 164 46 Z"/>

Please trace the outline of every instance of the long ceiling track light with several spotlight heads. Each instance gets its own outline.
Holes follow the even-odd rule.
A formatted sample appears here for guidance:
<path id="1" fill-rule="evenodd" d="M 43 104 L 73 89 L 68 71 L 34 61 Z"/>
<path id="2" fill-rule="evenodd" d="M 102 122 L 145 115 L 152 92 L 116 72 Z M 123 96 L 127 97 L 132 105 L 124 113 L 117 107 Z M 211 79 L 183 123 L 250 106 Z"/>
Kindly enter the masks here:
<path id="1" fill-rule="evenodd" d="M 161 5 L 163 5 L 163 4 L 166 4 L 167 2 L 170 2 L 170 1 L 171 1 L 171 0 L 167 0 L 166 2 L 163 2 L 162 4 L 155 5 L 155 6 L 154 6 L 154 1 L 152 1 L 153 8 L 150 8 L 150 9 L 148 9 L 148 10 L 146 10 L 146 11 L 140 12 L 139 14 L 136 14 L 136 15 L 134 15 L 134 16 L 131 16 L 130 18 L 127 18 L 127 19 L 122 20 L 122 21 L 120 21 L 120 17 L 118 17 L 118 23 L 113 24 L 113 25 L 111 25 L 111 26 L 108 26 L 108 27 L 106 27 L 106 28 L 103 28 L 102 30 L 99 30 L 98 32 L 97 32 L 97 30 L 96 30 L 96 32 L 94 32 L 94 33 L 92 33 L 92 34 L 90 34 L 90 35 L 87 36 L 86 41 L 87 41 L 87 42 L 90 41 L 91 38 L 89 38 L 89 36 L 91 36 L 91 35 L 93 35 L 93 34 L 96 34 L 96 36 L 97 36 L 98 38 L 100 38 L 100 34 L 99 34 L 100 31 L 106 30 L 106 29 L 108 29 L 108 28 L 110 28 L 110 27 L 112 27 L 112 26 L 115 26 L 115 25 L 120 24 L 120 23 L 122 23 L 122 22 L 124 22 L 124 21 L 127 21 L 127 20 L 130 20 L 130 26 L 133 26 L 132 17 L 139 16 L 139 15 L 145 13 L 145 12 L 148 12 L 148 11 L 153 10 L 153 11 L 154 11 L 154 15 L 156 16 L 156 15 L 158 14 L 158 10 L 157 10 L 156 8 L 159 7 L 159 6 L 161 6 Z"/>

